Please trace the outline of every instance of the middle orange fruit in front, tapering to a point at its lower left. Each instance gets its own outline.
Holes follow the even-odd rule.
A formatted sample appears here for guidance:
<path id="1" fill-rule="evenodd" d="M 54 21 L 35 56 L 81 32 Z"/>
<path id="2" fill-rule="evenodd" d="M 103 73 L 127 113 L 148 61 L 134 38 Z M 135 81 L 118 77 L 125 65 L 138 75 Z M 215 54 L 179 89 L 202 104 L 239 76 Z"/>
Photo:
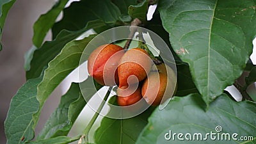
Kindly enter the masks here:
<path id="1" fill-rule="evenodd" d="M 134 48 L 125 52 L 118 66 L 119 87 L 143 81 L 150 72 L 151 65 L 152 60 L 145 50 Z M 128 84 L 128 77 L 132 75 L 136 77 L 131 77 Z"/>

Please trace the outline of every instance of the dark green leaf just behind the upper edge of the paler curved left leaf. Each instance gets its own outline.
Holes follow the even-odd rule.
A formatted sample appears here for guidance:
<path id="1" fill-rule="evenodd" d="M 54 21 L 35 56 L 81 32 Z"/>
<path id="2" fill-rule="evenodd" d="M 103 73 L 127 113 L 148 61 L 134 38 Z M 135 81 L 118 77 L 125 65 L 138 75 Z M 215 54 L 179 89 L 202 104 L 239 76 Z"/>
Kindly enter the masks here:
<path id="1" fill-rule="evenodd" d="M 81 35 L 84 31 L 91 28 L 99 28 L 105 26 L 101 20 L 95 20 L 88 22 L 84 29 L 79 31 L 67 31 L 63 30 L 57 36 L 57 38 L 51 42 L 45 42 L 40 49 L 36 49 L 35 52 L 31 52 L 29 56 L 33 55 L 31 60 L 30 69 L 26 72 L 27 79 L 40 76 L 42 68 L 48 67 L 48 63 L 60 53 L 61 49 L 70 42 Z M 26 65 L 29 65 L 28 63 Z"/>

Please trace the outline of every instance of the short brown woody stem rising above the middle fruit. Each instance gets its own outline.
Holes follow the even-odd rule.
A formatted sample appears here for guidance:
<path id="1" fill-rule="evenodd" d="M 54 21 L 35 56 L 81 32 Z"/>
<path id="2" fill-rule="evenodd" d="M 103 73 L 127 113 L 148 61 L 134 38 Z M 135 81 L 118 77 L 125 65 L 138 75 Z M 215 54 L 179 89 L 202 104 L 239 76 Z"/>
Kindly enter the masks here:
<path id="1" fill-rule="evenodd" d="M 130 26 L 130 35 L 128 36 L 127 42 L 125 42 L 124 49 L 128 49 L 129 48 L 129 46 L 130 46 L 130 44 L 132 42 L 132 38 L 134 36 L 134 33 L 137 30 L 137 26 L 139 26 L 140 24 L 141 24 L 141 20 L 140 19 L 135 18 L 134 20 L 132 20 L 131 26 Z"/>

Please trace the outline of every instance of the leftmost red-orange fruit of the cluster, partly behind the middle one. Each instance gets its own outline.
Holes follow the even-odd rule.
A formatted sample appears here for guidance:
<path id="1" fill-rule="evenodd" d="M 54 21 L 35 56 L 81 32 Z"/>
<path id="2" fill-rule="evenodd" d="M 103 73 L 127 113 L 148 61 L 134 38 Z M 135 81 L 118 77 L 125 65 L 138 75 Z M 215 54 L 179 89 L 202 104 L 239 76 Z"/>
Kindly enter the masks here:
<path id="1" fill-rule="evenodd" d="M 124 55 L 122 47 L 114 44 L 100 45 L 88 58 L 88 72 L 97 83 L 114 86 L 118 83 L 118 62 Z"/>

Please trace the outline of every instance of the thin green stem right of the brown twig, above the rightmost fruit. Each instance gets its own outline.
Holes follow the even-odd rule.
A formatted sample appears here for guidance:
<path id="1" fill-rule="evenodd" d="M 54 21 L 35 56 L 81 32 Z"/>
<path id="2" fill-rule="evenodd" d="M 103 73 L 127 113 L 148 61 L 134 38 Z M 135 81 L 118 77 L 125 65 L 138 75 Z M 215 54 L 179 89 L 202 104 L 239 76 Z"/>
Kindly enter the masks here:
<path id="1" fill-rule="evenodd" d="M 150 56 L 150 58 L 152 59 L 152 61 L 156 64 L 156 65 L 159 65 L 159 64 L 161 64 L 162 63 L 162 61 L 159 61 L 157 58 L 155 58 L 155 56 L 154 56 L 154 54 L 148 49 L 148 46 L 147 46 L 147 44 L 146 44 L 146 42 L 145 42 L 145 40 L 144 40 L 144 38 L 143 38 L 143 35 L 142 35 L 142 32 L 141 31 L 139 31 L 139 34 L 138 34 L 138 37 L 139 37 L 139 48 L 141 48 L 141 49 L 144 49 L 145 51 L 147 51 L 148 52 L 148 54 L 149 54 L 149 56 Z"/>

